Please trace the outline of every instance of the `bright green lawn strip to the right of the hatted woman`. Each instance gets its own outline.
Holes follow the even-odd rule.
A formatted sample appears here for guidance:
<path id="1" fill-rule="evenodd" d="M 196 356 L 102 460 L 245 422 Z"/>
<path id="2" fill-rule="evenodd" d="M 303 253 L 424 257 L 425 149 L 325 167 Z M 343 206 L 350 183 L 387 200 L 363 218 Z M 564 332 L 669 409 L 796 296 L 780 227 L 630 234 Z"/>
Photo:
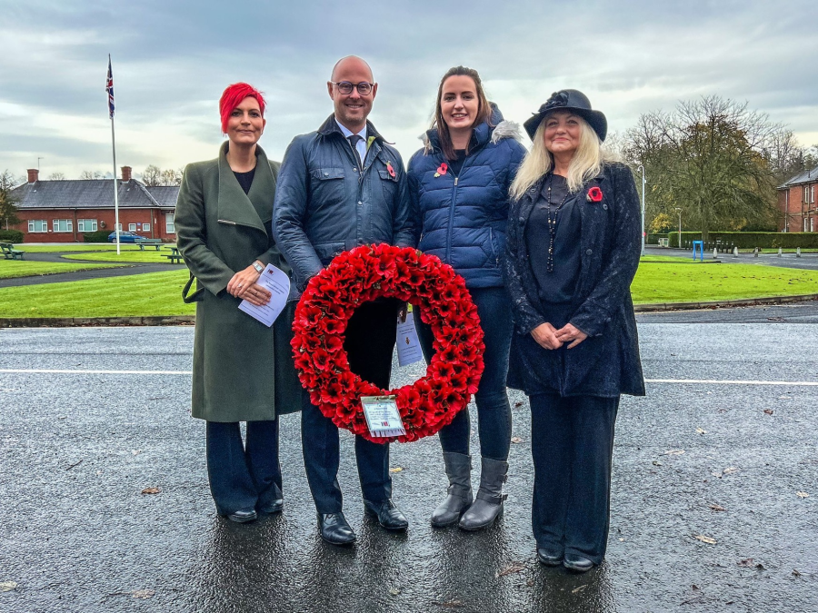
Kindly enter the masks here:
<path id="1" fill-rule="evenodd" d="M 755 264 L 640 266 L 631 285 L 633 302 L 705 302 L 818 293 L 818 271 Z"/>

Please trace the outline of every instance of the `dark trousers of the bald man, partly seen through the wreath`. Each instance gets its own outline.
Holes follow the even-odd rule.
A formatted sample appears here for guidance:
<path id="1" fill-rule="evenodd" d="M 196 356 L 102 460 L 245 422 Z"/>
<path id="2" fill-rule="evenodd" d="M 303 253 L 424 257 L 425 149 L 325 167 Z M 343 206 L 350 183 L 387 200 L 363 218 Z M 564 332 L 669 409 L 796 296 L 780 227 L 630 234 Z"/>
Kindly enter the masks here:
<path id="1" fill-rule="evenodd" d="M 344 350 L 350 370 L 364 381 L 389 389 L 392 375 L 395 326 L 400 303 L 381 299 L 362 304 L 346 327 Z M 302 395 L 301 441 L 304 467 L 319 513 L 338 513 L 344 507 L 338 484 L 340 450 L 338 428 Z M 355 459 L 364 499 L 379 502 L 392 498 L 389 445 L 355 437 Z"/>

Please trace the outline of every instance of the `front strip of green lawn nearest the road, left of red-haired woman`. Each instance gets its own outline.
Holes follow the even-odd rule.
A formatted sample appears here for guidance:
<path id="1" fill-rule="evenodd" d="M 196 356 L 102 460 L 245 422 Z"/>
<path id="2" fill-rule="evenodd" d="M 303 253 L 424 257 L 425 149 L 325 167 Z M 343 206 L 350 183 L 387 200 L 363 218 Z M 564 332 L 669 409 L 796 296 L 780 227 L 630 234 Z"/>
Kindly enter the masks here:
<path id="1" fill-rule="evenodd" d="M 194 304 L 182 302 L 188 279 L 179 271 L 127 277 L 46 283 L 0 289 L 3 317 L 147 317 L 190 315 Z"/>

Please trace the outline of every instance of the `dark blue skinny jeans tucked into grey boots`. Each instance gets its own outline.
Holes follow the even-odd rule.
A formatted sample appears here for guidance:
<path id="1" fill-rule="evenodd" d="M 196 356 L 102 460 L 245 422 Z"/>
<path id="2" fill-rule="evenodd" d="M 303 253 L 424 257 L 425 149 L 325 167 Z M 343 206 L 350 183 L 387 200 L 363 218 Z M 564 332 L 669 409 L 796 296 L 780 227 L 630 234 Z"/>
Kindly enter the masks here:
<path id="1" fill-rule="evenodd" d="M 480 435 L 480 455 L 491 460 L 505 461 L 511 447 L 511 407 L 505 392 L 508 375 L 508 351 L 511 347 L 514 323 L 511 301 L 503 287 L 469 290 L 477 306 L 480 326 L 483 328 L 485 369 L 474 403 L 477 405 L 477 430 Z M 414 309 L 414 323 L 426 361 L 434 356 L 432 328 L 420 319 L 420 309 Z M 440 430 L 440 444 L 444 451 L 469 453 L 471 420 L 468 407 L 454 416 L 448 426 Z"/>

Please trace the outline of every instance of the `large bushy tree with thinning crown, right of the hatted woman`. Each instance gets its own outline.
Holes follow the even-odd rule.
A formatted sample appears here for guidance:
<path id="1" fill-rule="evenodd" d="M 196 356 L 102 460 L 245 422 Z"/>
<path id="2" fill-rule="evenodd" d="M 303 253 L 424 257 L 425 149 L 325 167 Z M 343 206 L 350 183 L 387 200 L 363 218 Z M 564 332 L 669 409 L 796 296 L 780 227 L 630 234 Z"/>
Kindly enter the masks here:
<path id="1" fill-rule="evenodd" d="M 787 131 L 766 114 L 706 96 L 672 113 L 643 114 L 628 133 L 626 156 L 650 181 L 649 218 L 682 209 L 686 227 L 710 231 L 773 222 L 772 143 Z"/>

